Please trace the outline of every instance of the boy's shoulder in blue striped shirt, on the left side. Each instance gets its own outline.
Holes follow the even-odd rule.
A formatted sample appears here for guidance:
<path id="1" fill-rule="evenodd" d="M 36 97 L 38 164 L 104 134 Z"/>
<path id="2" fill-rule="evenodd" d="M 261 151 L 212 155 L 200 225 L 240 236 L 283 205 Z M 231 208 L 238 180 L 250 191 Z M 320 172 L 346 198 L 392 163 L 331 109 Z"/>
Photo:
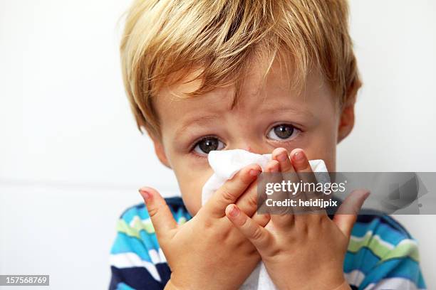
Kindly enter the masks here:
<path id="1" fill-rule="evenodd" d="M 182 198 L 165 198 L 177 223 L 191 218 Z M 110 289 L 161 289 L 170 269 L 157 242 L 155 229 L 144 203 L 126 209 L 117 221 L 117 235 L 110 250 Z M 125 284 L 129 281 L 129 284 Z M 124 287 L 124 288 L 123 288 Z"/>

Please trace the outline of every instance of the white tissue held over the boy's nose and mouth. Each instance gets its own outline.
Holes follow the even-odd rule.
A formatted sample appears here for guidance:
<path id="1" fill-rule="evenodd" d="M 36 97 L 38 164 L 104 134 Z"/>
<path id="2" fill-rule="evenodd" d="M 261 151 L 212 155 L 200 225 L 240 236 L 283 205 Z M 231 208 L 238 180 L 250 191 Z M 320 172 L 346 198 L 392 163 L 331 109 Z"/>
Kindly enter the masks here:
<path id="1" fill-rule="evenodd" d="M 207 180 L 202 189 L 202 205 L 212 196 L 212 194 L 220 188 L 224 182 L 232 178 L 241 168 L 249 164 L 259 164 L 264 170 L 266 163 L 271 160 L 271 154 L 254 154 L 242 149 L 210 151 L 208 156 L 209 164 L 212 167 L 214 174 Z M 322 160 L 309 161 L 312 171 L 326 173 L 326 164 Z M 318 182 L 328 182 L 328 174 L 316 175 Z M 320 180 L 321 179 L 321 180 Z M 266 272 L 263 262 L 259 262 L 256 269 L 251 272 L 250 276 L 244 281 L 240 289 L 244 290 L 260 290 L 260 289 L 276 289 L 273 281 Z"/>

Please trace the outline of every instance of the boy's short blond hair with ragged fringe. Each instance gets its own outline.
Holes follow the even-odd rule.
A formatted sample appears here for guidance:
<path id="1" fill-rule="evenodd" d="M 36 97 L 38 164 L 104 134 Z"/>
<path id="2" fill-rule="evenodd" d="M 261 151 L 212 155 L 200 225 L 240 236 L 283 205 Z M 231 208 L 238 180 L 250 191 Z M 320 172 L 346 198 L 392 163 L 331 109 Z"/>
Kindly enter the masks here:
<path id="1" fill-rule="evenodd" d="M 252 58 L 266 60 L 267 75 L 282 50 L 296 84 L 316 65 L 340 104 L 354 100 L 361 83 L 345 0 L 135 0 L 120 53 L 138 128 L 160 136 L 152 100 L 183 77 L 170 75 L 202 68 L 195 77 L 202 85 L 188 97 L 238 88 Z"/>

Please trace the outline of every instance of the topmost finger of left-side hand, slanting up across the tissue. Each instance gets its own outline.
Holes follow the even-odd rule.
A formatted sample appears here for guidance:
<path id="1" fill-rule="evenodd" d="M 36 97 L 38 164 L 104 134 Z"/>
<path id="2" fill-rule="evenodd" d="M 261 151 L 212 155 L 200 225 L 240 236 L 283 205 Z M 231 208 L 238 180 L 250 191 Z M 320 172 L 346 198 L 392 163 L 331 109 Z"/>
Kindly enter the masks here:
<path id="1" fill-rule="evenodd" d="M 257 164 L 242 168 L 207 200 L 204 205 L 205 213 L 210 213 L 215 218 L 224 217 L 227 205 L 235 203 L 261 171 Z"/>

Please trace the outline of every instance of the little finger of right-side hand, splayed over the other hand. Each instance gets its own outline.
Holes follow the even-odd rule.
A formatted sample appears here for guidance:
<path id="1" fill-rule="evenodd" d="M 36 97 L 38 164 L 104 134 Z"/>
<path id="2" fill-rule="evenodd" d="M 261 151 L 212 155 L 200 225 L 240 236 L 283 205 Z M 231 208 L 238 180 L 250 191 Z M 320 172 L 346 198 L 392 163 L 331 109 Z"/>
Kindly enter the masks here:
<path id="1" fill-rule="evenodd" d="M 271 239 L 269 232 L 254 220 L 251 220 L 242 210 L 239 210 L 237 205 L 228 205 L 226 216 L 259 252 L 268 249 L 269 240 Z"/>

